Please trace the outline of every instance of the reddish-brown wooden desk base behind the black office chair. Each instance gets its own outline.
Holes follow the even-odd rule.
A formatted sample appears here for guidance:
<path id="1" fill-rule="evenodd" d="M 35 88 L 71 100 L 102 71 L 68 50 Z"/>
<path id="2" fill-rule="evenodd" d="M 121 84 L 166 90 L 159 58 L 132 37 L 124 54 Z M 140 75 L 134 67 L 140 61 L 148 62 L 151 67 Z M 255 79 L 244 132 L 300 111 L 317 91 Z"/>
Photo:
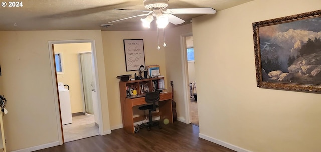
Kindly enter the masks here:
<path id="1" fill-rule="evenodd" d="M 124 129 L 128 133 L 134 133 L 134 122 L 142 121 L 144 116 L 133 117 L 133 107 L 147 104 L 145 97 L 138 98 L 125 98 L 121 101 L 121 112 Z M 153 113 L 153 116 L 161 116 L 161 122 L 164 119 L 169 119 L 170 123 L 173 123 L 173 112 L 172 112 L 172 92 L 161 93 L 161 99 L 159 100 L 159 112 Z M 147 115 L 148 116 L 148 115 Z"/>

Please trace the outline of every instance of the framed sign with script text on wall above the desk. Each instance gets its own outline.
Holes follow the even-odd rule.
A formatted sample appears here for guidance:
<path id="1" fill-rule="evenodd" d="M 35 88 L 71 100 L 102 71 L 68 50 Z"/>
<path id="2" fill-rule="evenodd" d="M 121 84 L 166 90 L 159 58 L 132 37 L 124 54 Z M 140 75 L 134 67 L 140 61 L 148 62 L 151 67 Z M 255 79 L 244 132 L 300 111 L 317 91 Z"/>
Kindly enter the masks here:
<path id="1" fill-rule="evenodd" d="M 143 39 L 124 40 L 126 71 L 139 70 L 141 65 L 145 66 L 145 53 Z"/>

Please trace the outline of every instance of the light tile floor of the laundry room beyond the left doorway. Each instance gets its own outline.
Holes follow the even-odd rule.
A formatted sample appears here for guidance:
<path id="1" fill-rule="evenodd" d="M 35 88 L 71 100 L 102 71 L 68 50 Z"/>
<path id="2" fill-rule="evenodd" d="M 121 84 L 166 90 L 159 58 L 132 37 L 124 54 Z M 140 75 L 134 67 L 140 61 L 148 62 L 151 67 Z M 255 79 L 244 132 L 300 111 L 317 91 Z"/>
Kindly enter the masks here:
<path id="1" fill-rule="evenodd" d="M 99 128 L 95 126 L 94 116 L 79 115 L 72 117 L 72 123 L 62 126 L 64 141 L 70 142 L 99 135 Z"/>

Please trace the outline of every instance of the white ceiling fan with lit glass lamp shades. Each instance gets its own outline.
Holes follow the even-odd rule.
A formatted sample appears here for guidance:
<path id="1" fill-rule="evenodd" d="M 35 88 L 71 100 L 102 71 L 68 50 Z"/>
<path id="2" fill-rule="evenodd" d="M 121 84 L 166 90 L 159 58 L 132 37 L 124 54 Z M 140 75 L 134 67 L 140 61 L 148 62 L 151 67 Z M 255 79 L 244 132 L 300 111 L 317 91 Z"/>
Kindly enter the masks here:
<path id="1" fill-rule="evenodd" d="M 165 28 L 168 23 L 175 25 L 182 24 L 185 21 L 173 14 L 215 14 L 216 10 L 213 8 L 175 8 L 163 10 L 169 6 L 169 0 L 143 0 L 145 8 L 149 10 L 133 10 L 133 9 L 116 9 L 125 11 L 141 11 L 146 12 L 146 14 L 140 14 L 132 17 L 127 17 L 115 21 L 110 21 L 108 23 L 113 23 L 121 20 L 126 20 L 135 17 L 146 16 L 146 18 L 141 18 L 144 27 L 150 28 L 150 23 L 156 17 L 156 23 L 158 28 Z"/>

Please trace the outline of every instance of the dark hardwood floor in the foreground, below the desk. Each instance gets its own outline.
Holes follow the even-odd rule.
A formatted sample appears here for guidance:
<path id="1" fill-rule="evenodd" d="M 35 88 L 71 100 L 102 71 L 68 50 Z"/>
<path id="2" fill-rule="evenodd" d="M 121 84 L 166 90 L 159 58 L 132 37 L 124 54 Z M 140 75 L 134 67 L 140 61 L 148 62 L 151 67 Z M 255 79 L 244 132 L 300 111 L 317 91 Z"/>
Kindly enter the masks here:
<path id="1" fill-rule="evenodd" d="M 124 129 L 112 130 L 111 134 L 94 136 L 63 145 L 38 150 L 39 152 L 81 152 L 81 151 L 213 151 L 232 152 L 228 148 L 198 137 L 199 127 L 179 121 L 174 124 L 141 129 L 135 134 L 128 134 Z"/>

